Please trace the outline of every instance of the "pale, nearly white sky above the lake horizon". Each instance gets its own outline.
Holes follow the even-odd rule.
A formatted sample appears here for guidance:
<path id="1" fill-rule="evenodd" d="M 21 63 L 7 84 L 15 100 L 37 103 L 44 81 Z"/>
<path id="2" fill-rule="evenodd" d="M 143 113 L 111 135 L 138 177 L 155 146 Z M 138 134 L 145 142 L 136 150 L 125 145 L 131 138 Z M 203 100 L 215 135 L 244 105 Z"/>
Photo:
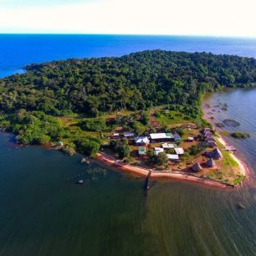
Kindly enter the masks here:
<path id="1" fill-rule="evenodd" d="M 0 33 L 256 38 L 256 0 L 0 0 Z"/>

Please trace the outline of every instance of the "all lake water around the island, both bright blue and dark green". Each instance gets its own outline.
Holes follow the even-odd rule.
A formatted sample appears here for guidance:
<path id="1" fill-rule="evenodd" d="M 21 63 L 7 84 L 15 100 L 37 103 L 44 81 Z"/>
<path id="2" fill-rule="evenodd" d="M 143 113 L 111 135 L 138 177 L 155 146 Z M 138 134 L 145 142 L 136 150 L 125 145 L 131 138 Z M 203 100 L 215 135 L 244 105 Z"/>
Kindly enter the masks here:
<path id="1" fill-rule="evenodd" d="M 31 62 L 119 56 L 141 49 L 256 57 L 255 45 L 230 38 L 2 35 L 0 74 L 12 74 Z M 248 140 L 229 142 L 255 173 L 256 90 L 216 94 L 208 102 L 227 103 L 228 110 L 216 110 L 215 119 L 238 120 L 236 129 L 251 134 Z M 84 172 L 103 167 L 79 161 L 80 156 L 38 146 L 17 148 L 11 135 L 0 133 L 1 256 L 256 255 L 253 179 L 228 191 L 156 182 L 145 197 L 143 180 L 110 169 L 92 180 Z M 80 177 L 84 186 L 74 185 Z M 238 202 L 246 208 L 239 210 Z"/>

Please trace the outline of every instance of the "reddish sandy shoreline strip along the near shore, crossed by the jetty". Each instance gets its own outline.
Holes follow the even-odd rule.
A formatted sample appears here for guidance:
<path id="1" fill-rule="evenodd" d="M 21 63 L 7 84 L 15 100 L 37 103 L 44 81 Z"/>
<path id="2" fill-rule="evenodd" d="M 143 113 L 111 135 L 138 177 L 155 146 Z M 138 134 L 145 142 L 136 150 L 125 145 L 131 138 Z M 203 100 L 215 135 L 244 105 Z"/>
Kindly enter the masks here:
<path id="1" fill-rule="evenodd" d="M 125 164 L 121 161 L 115 160 L 114 157 L 106 155 L 105 153 L 98 153 L 96 155 L 96 159 L 101 163 L 104 163 L 107 166 L 114 167 L 115 169 L 119 170 L 120 172 L 127 172 L 135 175 L 139 175 L 141 177 L 146 177 L 151 169 L 144 169 L 139 166 L 131 166 L 129 164 Z M 203 177 L 196 177 L 192 176 L 188 173 L 182 172 L 151 172 L 151 178 L 161 179 L 161 178 L 168 178 L 168 179 L 175 179 L 184 182 L 197 182 L 205 186 L 210 187 L 218 187 L 218 188 L 227 188 L 233 187 L 232 185 L 224 184 L 223 182 L 214 181 L 208 178 Z"/>

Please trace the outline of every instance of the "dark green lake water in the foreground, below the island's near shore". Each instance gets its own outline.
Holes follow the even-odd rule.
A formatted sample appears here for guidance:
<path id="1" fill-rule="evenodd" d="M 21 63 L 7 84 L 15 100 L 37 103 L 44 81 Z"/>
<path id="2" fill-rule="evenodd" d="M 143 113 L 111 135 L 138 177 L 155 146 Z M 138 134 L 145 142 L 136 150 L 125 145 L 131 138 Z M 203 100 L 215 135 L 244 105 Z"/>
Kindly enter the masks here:
<path id="1" fill-rule="evenodd" d="M 141 179 L 107 169 L 93 182 L 95 164 L 11 138 L 0 134 L 0 255 L 256 255 L 254 188 L 156 182 L 145 197 Z"/>

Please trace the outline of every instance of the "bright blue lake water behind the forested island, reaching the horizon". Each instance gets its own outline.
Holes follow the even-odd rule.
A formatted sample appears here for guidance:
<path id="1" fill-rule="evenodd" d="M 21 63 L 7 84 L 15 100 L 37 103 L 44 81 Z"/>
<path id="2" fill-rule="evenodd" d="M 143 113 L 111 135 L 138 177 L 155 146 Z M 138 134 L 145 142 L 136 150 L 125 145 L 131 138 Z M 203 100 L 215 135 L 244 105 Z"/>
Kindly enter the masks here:
<path id="1" fill-rule="evenodd" d="M 123 35 L 0 34 L 0 77 L 54 59 L 120 56 L 166 49 L 256 57 L 256 39 Z"/>

